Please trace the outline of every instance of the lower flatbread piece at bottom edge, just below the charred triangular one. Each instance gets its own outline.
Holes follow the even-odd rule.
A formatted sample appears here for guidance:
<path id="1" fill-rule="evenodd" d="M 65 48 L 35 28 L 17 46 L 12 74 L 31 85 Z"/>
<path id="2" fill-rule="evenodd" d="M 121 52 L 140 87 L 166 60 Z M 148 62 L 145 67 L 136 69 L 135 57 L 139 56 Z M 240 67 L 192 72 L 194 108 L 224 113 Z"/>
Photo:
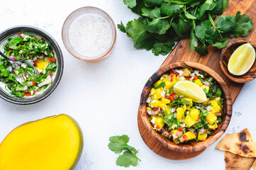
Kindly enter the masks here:
<path id="1" fill-rule="evenodd" d="M 238 154 L 225 152 L 226 170 L 250 170 L 255 158 L 241 157 Z"/>

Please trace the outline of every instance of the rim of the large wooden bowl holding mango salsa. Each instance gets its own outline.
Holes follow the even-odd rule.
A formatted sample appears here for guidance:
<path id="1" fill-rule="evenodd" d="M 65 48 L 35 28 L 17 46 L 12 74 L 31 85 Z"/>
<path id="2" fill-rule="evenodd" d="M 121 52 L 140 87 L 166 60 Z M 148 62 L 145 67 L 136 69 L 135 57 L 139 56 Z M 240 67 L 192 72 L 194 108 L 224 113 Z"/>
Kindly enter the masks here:
<path id="1" fill-rule="evenodd" d="M 223 96 L 226 99 L 226 111 L 224 114 L 226 116 L 224 117 L 223 122 L 221 123 L 221 128 L 218 127 L 214 132 L 216 132 L 215 135 L 210 135 L 207 137 L 205 141 L 201 142 L 191 142 L 189 145 L 177 145 L 174 142 L 171 142 L 169 139 L 165 139 L 160 135 L 159 133 L 155 132 L 155 130 L 152 130 L 152 125 L 150 123 L 150 120 L 148 120 L 148 113 L 146 111 L 146 100 L 148 98 L 148 94 L 150 92 L 150 89 L 152 88 L 152 85 L 160 79 L 162 74 L 165 74 L 170 69 L 174 68 L 180 68 L 180 67 L 191 67 L 193 69 L 199 69 L 201 71 L 207 72 L 207 74 L 211 75 L 213 79 L 215 79 L 218 84 L 220 85 Z M 218 80 L 217 80 L 218 79 Z M 214 142 L 216 142 L 226 131 L 228 128 L 228 124 L 230 123 L 230 118 L 232 115 L 232 98 L 230 95 L 230 91 L 228 89 L 228 86 L 226 85 L 225 81 L 215 72 L 213 69 L 206 67 L 203 64 L 199 64 L 196 62 L 174 62 L 172 64 L 168 64 L 165 67 L 162 67 L 157 70 L 154 74 L 152 74 L 152 77 L 148 79 L 147 83 L 145 84 L 143 88 L 143 92 L 140 96 L 140 107 L 138 109 L 138 116 L 140 116 L 143 125 L 145 129 L 148 131 L 149 135 L 153 137 L 157 142 L 159 142 L 161 145 L 166 147 L 167 149 L 171 149 L 176 152 L 197 152 L 203 149 L 206 149 L 206 147 L 212 145 Z"/>

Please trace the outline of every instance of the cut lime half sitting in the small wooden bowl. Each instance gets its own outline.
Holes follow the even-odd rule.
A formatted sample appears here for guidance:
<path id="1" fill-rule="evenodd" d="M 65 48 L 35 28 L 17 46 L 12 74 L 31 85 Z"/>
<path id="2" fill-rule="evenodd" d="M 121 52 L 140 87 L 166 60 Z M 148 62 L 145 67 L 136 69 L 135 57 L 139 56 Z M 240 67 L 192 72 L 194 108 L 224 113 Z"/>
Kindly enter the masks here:
<path id="1" fill-rule="evenodd" d="M 228 60 L 228 72 L 241 76 L 248 72 L 254 62 L 255 48 L 250 43 L 240 45 Z"/>

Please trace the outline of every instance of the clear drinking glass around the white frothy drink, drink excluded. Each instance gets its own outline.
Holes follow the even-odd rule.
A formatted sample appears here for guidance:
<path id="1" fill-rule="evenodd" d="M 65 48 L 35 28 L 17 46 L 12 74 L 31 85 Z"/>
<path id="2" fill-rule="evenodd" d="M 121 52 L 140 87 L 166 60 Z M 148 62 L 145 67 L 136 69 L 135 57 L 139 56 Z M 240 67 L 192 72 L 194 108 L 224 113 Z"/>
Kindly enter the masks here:
<path id="1" fill-rule="evenodd" d="M 111 43 L 110 43 L 109 47 L 107 48 L 107 50 L 105 52 L 101 53 L 100 55 L 96 55 L 96 56 L 82 55 L 79 52 L 77 52 L 76 50 L 74 50 L 74 48 L 72 47 L 72 45 L 70 43 L 69 30 L 70 30 L 70 27 L 71 27 L 73 21 L 76 18 L 78 18 L 79 16 L 82 16 L 86 13 L 92 13 L 92 14 L 96 14 L 96 15 L 104 17 L 106 19 L 106 21 L 108 21 L 109 25 L 111 26 L 111 30 L 112 30 L 111 31 L 112 32 Z M 84 27 L 87 27 L 87 26 L 84 26 Z M 99 62 L 101 60 L 104 60 L 106 57 L 108 57 L 111 54 L 111 52 L 113 51 L 113 47 L 116 43 L 116 25 L 113 22 L 113 19 L 111 18 L 111 16 L 109 16 L 108 13 L 101 10 L 100 8 L 96 8 L 93 6 L 85 6 L 82 8 L 78 8 L 77 10 L 70 13 L 69 16 L 67 16 L 67 18 L 62 26 L 62 41 L 63 41 L 65 47 L 67 48 L 67 51 L 74 57 L 76 57 L 80 60 L 87 61 L 87 62 Z"/>

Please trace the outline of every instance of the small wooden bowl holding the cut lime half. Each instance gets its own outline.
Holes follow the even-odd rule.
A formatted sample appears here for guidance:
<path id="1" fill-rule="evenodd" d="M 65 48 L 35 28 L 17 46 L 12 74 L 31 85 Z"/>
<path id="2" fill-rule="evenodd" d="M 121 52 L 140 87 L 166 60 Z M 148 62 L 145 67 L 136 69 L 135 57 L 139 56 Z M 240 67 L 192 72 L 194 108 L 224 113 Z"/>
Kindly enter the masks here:
<path id="1" fill-rule="evenodd" d="M 253 47 L 256 47 L 255 42 L 252 42 L 250 40 L 230 40 L 228 42 L 228 45 L 224 47 L 223 50 L 221 51 L 221 57 L 219 61 L 221 69 L 230 80 L 237 83 L 246 83 L 247 81 L 252 81 L 256 77 L 256 62 L 252 65 L 249 71 L 246 74 L 243 74 L 242 76 L 235 76 L 228 72 L 228 60 L 230 56 L 235 51 L 235 49 L 237 49 L 240 45 L 243 45 L 247 42 L 250 42 L 250 44 Z"/>

